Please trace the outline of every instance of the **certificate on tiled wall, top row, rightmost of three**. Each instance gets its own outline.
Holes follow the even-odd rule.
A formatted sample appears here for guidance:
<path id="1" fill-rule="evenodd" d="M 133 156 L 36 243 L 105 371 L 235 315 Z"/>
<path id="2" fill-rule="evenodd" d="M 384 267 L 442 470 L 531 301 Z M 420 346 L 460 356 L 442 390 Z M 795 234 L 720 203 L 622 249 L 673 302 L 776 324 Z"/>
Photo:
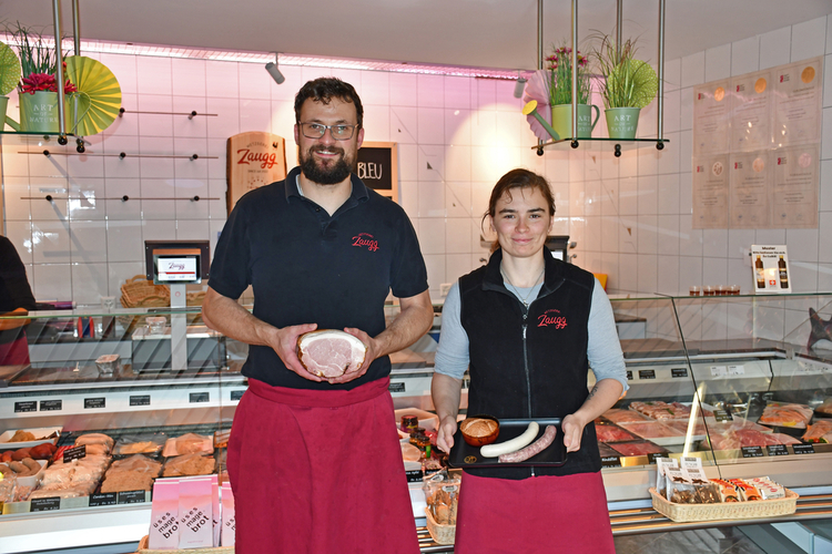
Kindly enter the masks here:
<path id="1" fill-rule="evenodd" d="M 774 146 L 821 140 L 823 59 L 813 58 L 774 71 Z"/>

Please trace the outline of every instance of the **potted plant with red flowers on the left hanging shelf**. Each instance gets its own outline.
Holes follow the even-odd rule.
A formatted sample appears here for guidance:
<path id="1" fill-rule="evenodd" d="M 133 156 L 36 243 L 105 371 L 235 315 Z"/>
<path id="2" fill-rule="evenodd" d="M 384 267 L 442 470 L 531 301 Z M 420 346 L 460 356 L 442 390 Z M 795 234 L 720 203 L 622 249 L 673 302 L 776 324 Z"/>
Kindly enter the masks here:
<path id="1" fill-rule="evenodd" d="M 17 131 L 57 133 L 59 124 L 55 49 L 40 33 L 22 27 L 20 22 L 14 27 L 7 27 L 6 31 L 13 37 L 19 47 L 22 70 L 22 79 L 18 85 L 19 129 L 11 120 L 7 122 Z M 67 80 L 63 91 L 67 95 L 72 94 L 75 86 Z M 68 110 L 64 109 L 63 113 L 67 116 Z"/>

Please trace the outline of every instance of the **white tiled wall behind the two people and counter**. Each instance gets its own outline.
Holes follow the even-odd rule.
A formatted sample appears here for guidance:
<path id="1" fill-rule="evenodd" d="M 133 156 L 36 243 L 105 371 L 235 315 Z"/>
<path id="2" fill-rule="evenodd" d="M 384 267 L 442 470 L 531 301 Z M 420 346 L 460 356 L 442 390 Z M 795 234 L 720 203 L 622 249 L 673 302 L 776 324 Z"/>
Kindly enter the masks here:
<path id="1" fill-rule="evenodd" d="M 826 58 L 820 228 L 692 229 L 692 88 L 815 55 Z M 4 233 L 41 300 L 98 304 L 100 296 L 118 296 L 126 278 L 143 271 L 145 239 L 209 238 L 213 248 L 225 220 L 225 140 L 243 131 L 276 133 L 287 138 L 292 166 L 294 94 L 306 80 L 328 74 L 351 82 L 362 95 L 365 140 L 399 144 L 399 202 L 419 235 L 434 298 L 440 284 L 487 256 L 479 243 L 488 194 L 516 166 L 549 178 L 557 201 L 555 232 L 578 243 L 576 264 L 609 274 L 609 291 L 678 294 L 707 284 L 749 290 L 743 249 L 755 243 L 789 246 L 795 290 L 832 290 L 832 17 L 668 60 L 663 120 L 670 143 L 661 153 L 645 147 L 620 158 L 600 146 L 538 157 L 511 82 L 282 66 L 286 81 L 276 85 L 260 64 L 98 58 L 119 79 L 128 113 L 89 138 L 90 155 L 54 143 L 45 147 L 70 155 L 19 154 L 44 146 L 3 138 Z M 16 105 L 13 98 L 10 109 Z M 192 110 L 216 115 L 130 113 Z M 641 136 L 656 135 L 656 119 L 653 103 L 642 112 Z M 599 135 L 606 133 L 602 120 Z M 120 152 L 200 158 L 119 160 Z M 47 192 L 85 199 L 20 199 Z M 133 199 L 100 199 L 122 195 Z M 219 199 L 186 199 L 194 195 Z"/>

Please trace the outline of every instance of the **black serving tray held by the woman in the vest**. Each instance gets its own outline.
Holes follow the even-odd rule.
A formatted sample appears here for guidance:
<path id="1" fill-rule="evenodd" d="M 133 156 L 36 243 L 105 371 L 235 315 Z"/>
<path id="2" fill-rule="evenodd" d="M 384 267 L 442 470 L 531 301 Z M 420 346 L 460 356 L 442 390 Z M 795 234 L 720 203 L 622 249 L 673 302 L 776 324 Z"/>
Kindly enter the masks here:
<path id="1" fill-rule="evenodd" d="M 505 442 L 515 437 L 521 435 L 532 421 L 537 421 L 537 424 L 540 425 L 540 430 L 535 440 L 544 435 L 547 425 L 556 425 L 558 428 L 558 434 L 555 437 L 555 440 L 549 448 L 542 452 L 538 452 L 525 462 L 499 463 L 497 458 L 483 458 L 479 454 L 479 449 L 481 447 L 471 447 L 465 442 L 465 439 L 463 439 L 463 432 L 457 429 L 456 434 L 454 434 L 454 447 L 448 454 L 448 465 L 451 468 L 529 468 L 531 465 L 564 465 L 566 463 L 566 447 L 564 445 L 564 431 L 560 429 L 560 418 L 501 419 L 499 420 L 500 434 L 496 442 Z"/>

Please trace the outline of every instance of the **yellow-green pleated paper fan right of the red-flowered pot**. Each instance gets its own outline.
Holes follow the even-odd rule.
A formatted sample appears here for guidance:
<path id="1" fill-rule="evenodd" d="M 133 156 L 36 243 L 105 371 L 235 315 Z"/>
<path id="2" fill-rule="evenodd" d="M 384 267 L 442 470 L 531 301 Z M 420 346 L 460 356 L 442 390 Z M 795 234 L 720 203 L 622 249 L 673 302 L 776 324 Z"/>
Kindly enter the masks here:
<path id="1" fill-rule="evenodd" d="M 70 99 L 70 107 L 78 103 L 78 124 L 72 127 L 77 135 L 100 133 L 115 121 L 121 107 L 121 86 L 106 65 L 84 55 L 71 55 L 67 62 L 67 78 L 78 88 Z M 74 122 L 73 122 L 74 123 Z"/>

